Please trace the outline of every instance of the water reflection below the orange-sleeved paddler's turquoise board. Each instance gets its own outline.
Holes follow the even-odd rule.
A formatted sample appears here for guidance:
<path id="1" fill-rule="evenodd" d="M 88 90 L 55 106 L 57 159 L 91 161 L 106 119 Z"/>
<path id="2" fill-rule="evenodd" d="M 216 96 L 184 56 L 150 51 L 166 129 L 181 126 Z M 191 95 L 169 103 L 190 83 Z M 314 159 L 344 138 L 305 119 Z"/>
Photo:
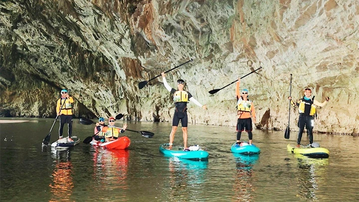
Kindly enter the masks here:
<path id="1" fill-rule="evenodd" d="M 257 163 L 259 154 L 242 155 L 233 153 L 233 156 L 236 163 L 235 182 L 233 185 L 233 192 L 236 194 L 233 201 L 251 202 L 254 200 L 254 188 L 252 185 L 252 167 Z"/>

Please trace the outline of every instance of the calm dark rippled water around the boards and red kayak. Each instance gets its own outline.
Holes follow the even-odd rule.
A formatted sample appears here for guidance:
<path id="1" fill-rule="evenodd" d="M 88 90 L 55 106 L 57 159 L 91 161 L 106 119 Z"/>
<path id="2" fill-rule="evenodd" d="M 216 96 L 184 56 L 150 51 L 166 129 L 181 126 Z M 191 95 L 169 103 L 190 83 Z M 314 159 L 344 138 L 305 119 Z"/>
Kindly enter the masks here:
<path id="1" fill-rule="evenodd" d="M 16 118 L 16 120 L 21 120 Z M 256 156 L 230 153 L 234 127 L 189 125 L 188 144 L 209 152 L 207 162 L 164 157 L 171 123 L 128 122 L 129 129 L 155 133 L 146 139 L 127 131 L 128 150 L 82 143 L 94 125 L 74 120 L 81 143 L 66 151 L 42 149 L 54 119 L 0 124 L 0 201 L 4 202 L 354 202 L 359 201 L 359 137 L 314 134 L 329 159 L 287 152 L 295 144 L 284 132 L 254 130 Z M 124 122 L 117 122 L 122 126 Z M 67 126 L 64 131 L 67 132 Z M 58 138 L 58 124 L 51 142 Z M 246 133 L 242 140 L 248 140 Z M 303 144 L 309 142 L 303 135 Z M 179 128 L 175 144 L 182 144 Z"/>

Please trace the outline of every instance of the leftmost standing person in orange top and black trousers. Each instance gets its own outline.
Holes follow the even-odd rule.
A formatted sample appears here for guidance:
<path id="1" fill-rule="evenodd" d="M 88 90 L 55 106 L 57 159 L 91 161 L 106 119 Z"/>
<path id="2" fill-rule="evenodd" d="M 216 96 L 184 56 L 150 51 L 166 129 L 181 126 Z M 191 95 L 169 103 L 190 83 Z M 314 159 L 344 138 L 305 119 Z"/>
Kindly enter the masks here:
<path id="1" fill-rule="evenodd" d="M 60 116 L 60 128 L 59 128 L 59 139 L 62 138 L 62 131 L 65 123 L 67 123 L 67 134 L 68 140 L 72 141 L 72 106 L 73 106 L 73 98 L 69 96 L 66 89 L 61 90 L 61 98 L 57 100 L 56 105 L 56 113 L 57 116 Z M 64 104 L 65 103 L 65 104 Z M 64 105 L 62 105 L 64 104 Z M 61 108 L 62 106 L 62 108 Z M 61 108 L 61 109 L 60 109 Z"/>

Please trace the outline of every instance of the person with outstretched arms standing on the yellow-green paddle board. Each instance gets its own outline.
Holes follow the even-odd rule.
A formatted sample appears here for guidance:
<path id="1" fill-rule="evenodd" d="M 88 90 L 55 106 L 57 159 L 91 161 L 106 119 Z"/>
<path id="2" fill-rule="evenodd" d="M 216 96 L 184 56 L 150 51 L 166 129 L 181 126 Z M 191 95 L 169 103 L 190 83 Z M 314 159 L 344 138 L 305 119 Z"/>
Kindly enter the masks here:
<path id="1" fill-rule="evenodd" d="M 315 96 L 312 95 L 312 90 L 306 88 L 304 90 L 304 97 L 299 99 L 296 103 L 293 102 L 292 97 L 288 97 L 291 100 L 291 104 L 294 107 L 299 107 L 299 120 L 298 120 L 298 139 L 297 139 L 297 148 L 300 147 L 300 142 L 302 140 L 302 134 L 304 127 L 307 129 L 307 134 L 309 136 L 309 144 L 313 144 L 313 128 L 314 128 L 314 116 L 317 115 L 316 107 L 323 107 L 329 101 L 329 97 L 326 97 L 326 100 L 323 103 L 318 102 L 314 99 Z"/>

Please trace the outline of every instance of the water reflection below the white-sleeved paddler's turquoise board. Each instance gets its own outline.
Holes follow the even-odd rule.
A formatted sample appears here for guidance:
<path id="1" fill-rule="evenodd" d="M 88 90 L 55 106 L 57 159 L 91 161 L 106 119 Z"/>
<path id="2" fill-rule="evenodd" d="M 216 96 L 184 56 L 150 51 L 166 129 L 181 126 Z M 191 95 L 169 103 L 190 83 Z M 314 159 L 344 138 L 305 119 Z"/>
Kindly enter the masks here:
<path id="1" fill-rule="evenodd" d="M 170 198 L 177 200 L 190 199 L 193 193 L 198 196 L 204 183 L 208 161 L 191 161 L 176 157 L 168 158 Z M 188 189 L 190 188 L 190 189 Z M 191 190 L 191 191 L 189 191 Z M 195 196 L 194 195 L 194 196 Z M 195 197 L 194 197 L 195 198 Z M 194 200 L 193 198 L 193 200 Z"/>

